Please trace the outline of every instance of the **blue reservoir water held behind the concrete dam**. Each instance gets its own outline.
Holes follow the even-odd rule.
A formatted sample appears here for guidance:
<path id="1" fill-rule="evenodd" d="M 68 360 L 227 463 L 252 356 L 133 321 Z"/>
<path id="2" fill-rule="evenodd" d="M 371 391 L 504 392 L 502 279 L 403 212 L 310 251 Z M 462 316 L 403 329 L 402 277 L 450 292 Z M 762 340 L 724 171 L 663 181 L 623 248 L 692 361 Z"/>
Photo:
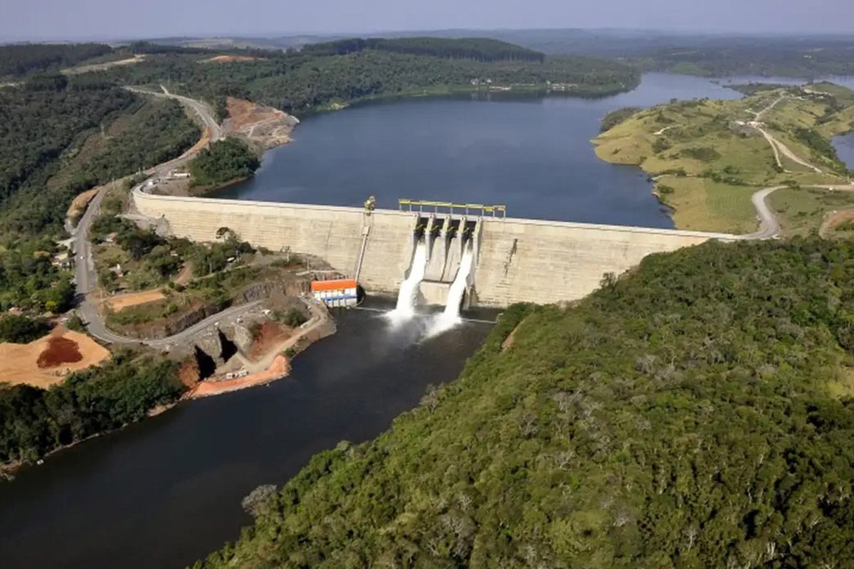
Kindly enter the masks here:
<path id="1" fill-rule="evenodd" d="M 639 168 L 596 158 L 590 140 L 620 107 L 670 98 L 737 98 L 704 78 L 651 73 L 604 99 L 430 99 L 354 107 L 305 119 L 267 152 L 253 179 L 219 195 L 244 200 L 379 206 L 397 200 L 505 204 L 520 218 L 672 227 Z"/>

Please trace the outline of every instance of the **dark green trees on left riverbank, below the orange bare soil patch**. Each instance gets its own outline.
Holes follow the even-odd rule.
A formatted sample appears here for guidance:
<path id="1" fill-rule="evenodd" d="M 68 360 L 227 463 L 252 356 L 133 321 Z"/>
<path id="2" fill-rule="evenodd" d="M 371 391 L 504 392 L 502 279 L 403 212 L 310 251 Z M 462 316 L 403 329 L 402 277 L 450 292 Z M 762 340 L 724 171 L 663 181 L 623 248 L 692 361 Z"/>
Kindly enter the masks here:
<path id="1" fill-rule="evenodd" d="M 0 383 L 0 463 L 32 462 L 139 421 L 182 392 L 177 363 L 129 350 L 116 351 L 100 368 L 71 374 L 48 390 Z"/>

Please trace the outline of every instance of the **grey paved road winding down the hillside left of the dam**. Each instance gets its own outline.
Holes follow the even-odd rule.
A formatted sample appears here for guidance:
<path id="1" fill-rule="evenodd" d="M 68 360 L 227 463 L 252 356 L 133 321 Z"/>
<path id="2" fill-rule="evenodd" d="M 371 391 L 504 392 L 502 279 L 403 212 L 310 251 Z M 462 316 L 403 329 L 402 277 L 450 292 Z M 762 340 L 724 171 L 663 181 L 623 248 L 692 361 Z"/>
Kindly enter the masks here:
<path id="1" fill-rule="evenodd" d="M 162 85 L 162 93 L 137 89 L 134 87 L 127 87 L 126 89 L 144 95 L 161 96 L 176 99 L 178 100 L 178 102 L 181 102 L 182 104 L 196 111 L 196 113 L 201 117 L 204 124 L 208 127 L 208 130 L 211 132 L 212 141 L 220 140 L 223 137 L 222 128 L 217 124 L 216 119 L 213 118 L 213 113 L 211 113 L 208 106 L 205 105 L 203 102 L 195 101 L 194 99 L 190 99 L 189 97 L 185 96 L 174 95 Z M 147 170 L 145 173 L 165 173 L 166 171 L 169 171 L 177 167 L 178 165 L 182 165 L 184 164 L 184 162 L 192 159 L 194 154 L 195 153 L 189 152 L 184 153 L 183 155 L 179 156 L 174 160 L 169 160 L 168 162 L 164 162 L 163 164 L 156 165 L 154 168 L 149 168 L 149 170 Z M 126 336 L 120 336 L 119 334 L 115 334 L 114 332 L 110 331 L 102 321 L 101 315 L 98 314 L 96 302 L 94 301 L 94 299 L 91 299 L 91 293 L 95 289 L 95 286 L 97 284 L 97 275 L 95 273 L 95 262 L 92 259 L 91 244 L 89 242 L 89 229 L 91 227 L 92 220 L 97 216 L 97 213 L 101 208 L 101 201 L 103 200 L 103 196 L 104 191 L 102 190 L 91 199 L 91 201 L 89 202 L 89 206 L 86 207 L 86 211 L 80 218 L 77 227 L 74 228 L 72 231 L 74 254 L 77 256 L 77 258 L 75 259 L 74 278 L 77 282 L 79 311 L 80 317 L 82 317 L 83 320 L 88 324 L 87 328 L 89 334 L 91 334 L 98 340 L 102 340 L 110 344 L 142 343 L 152 347 L 165 348 L 173 344 L 186 342 L 196 334 L 200 334 L 205 328 L 208 328 L 208 326 L 210 326 L 211 324 L 219 321 L 219 319 L 240 315 L 243 312 L 252 310 L 256 305 L 259 304 L 258 302 L 251 302 L 246 305 L 232 306 L 231 308 L 228 308 L 225 311 L 221 311 L 218 314 L 215 314 L 213 316 L 210 316 L 209 318 L 202 320 L 202 322 L 198 322 L 196 325 L 187 328 L 183 332 L 174 334 L 173 336 L 169 336 L 168 338 L 163 338 L 161 340 L 136 340 L 134 338 L 127 338 Z"/>

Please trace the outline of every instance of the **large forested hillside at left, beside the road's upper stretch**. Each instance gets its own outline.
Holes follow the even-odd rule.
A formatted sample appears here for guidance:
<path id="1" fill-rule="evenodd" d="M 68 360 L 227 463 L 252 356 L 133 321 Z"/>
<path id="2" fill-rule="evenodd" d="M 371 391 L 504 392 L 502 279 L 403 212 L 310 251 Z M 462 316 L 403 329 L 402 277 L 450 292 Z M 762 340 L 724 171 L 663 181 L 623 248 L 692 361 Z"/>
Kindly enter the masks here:
<path id="1" fill-rule="evenodd" d="M 178 103 L 149 102 L 91 74 L 0 90 L 3 241 L 58 233 L 74 196 L 174 157 L 197 136 Z"/>

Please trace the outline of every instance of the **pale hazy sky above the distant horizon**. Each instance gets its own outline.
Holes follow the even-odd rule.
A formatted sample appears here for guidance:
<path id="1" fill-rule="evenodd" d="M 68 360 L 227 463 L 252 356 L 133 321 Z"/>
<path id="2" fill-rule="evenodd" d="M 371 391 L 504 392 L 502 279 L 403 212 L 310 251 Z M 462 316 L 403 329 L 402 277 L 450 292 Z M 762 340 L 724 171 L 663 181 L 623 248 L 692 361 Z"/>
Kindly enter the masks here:
<path id="1" fill-rule="evenodd" d="M 632 27 L 854 32 L 854 0 L 0 0 L 0 39 Z"/>

